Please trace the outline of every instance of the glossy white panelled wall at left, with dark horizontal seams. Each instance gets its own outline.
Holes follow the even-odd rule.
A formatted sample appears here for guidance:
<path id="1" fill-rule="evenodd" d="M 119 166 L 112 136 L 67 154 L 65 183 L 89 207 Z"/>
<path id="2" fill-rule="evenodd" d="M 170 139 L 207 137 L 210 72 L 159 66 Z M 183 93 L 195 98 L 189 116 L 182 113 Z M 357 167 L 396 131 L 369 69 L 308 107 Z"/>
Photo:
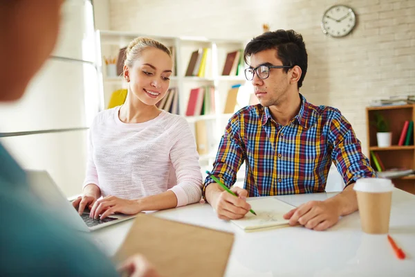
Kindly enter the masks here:
<path id="1" fill-rule="evenodd" d="M 66 0 L 53 55 L 95 60 L 88 1 Z M 24 98 L 0 105 L 0 132 L 87 127 L 98 111 L 93 65 L 49 59 Z M 26 169 L 47 170 L 66 195 L 81 192 L 86 167 L 86 131 L 30 134 L 1 139 Z"/>

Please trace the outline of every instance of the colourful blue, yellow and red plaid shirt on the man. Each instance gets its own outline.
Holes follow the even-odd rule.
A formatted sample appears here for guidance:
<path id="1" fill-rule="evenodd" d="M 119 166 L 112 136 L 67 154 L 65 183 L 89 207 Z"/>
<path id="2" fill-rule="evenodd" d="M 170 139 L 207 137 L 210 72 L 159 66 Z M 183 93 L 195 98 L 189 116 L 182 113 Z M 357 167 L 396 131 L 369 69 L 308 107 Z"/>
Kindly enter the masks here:
<path id="1" fill-rule="evenodd" d="M 299 96 L 299 113 L 284 126 L 261 105 L 234 114 L 219 144 L 212 174 L 230 188 L 245 161 L 243 187 L 250 197 L 322 193 L 332 161 L 346 186 L 362 177 L 376 177 L 340 111 L 314 106 Z M 210 177 L 205 179 L 203 197 L 212 182 Z"/>

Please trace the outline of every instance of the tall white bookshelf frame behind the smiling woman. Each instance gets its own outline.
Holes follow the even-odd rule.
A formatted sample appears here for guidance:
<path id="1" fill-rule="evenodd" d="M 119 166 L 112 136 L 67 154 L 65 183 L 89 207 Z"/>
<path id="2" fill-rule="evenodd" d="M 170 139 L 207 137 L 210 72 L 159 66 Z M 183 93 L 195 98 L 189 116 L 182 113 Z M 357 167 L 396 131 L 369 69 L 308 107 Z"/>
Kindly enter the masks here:
<path id="1" fill-rule="evenodd" d="M 216 157 L 217 147 L 223 134 L 225 125 L 228 123 L 232 114 L 224 114 L 225 101 L 229 89 L 236 84 L 246 84 L 243 72 L 239 75 L 221 75 L 227 54 L 232 51 L 243 49 L 248 41 L 235 39 L 208 39 L 205 37 L 164 37 L 148 35 L 142 33 L 119 32 L 113 30 L 97 30 L 97 60 L 98 73 L 100 75 L 101 100 L 100 107 L 108 107 L 111 93 L 118 89 L 126 89 L 127 83 L 121 76 L 107 76 L 105 57 L 116 57 L 120 48 L 125 47 L 136 37 L 151 37 L 162 42 L 167 47 L 174 47 L 174 60 L 176 72 L 170 78 L 170 87 L 178 89 L 179 114 L 185 116 L 187 102 L 189 101 L 190 91 L 196 87 L 214 87 L 214 106 L 213 114 L 200 116 L 185 116 L 192 131 L 196 132 L 196 123 L 200 120 L 205 121 L 207 128 L 206 141 L 208 141 L 208 152 L 201 154 L 199 159 L 202 171 L 211 169 L 214 157 Z M 199 48 L 209 49 L 208 60 L 203 77 L 186 76 L 187 66 L 194 51 Z M 196 134 L 195 134 L 196 137 Z"/>

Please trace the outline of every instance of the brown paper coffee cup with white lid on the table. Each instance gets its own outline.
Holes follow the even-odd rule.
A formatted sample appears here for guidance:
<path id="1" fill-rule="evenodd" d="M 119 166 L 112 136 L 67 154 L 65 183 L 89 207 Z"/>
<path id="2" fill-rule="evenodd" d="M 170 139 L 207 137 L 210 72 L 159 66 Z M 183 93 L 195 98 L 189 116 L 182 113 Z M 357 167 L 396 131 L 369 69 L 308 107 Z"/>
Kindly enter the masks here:
<path id="1" fill-rule="evenodd" d="M 369 234 L 388 233 L 394 190 L 391 180 L 362 178 L 356 181 L 353 189 L 358 197 L 362 230 Z"/>

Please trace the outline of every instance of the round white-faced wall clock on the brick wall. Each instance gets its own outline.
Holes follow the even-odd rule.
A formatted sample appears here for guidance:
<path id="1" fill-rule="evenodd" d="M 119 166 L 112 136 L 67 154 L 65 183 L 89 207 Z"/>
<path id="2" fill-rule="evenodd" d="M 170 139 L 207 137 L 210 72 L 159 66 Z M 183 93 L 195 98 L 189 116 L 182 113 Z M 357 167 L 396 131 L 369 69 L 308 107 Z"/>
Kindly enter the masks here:
<path id="1" fill-rule="evenodd" d="M 324 12 L 322 30 L 331 37 L 344 37 L 356 26 L 356 15 L 350 7 L 335 5 Z"/>

